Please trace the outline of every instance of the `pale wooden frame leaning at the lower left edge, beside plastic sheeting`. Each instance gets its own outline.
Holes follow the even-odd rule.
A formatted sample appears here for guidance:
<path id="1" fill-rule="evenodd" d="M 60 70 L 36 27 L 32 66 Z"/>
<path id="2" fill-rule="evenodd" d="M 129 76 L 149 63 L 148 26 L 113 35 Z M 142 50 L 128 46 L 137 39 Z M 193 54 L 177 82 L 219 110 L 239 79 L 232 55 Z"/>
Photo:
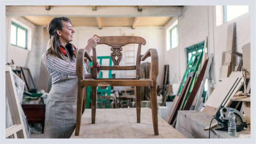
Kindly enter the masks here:
<path id="1" fill-rule="evenodd" d="M 13 125 L 5 129 L 5 138 L 26 139 L 26 131 L 20 111 L 18 94 L 10 66 L 5 66 L 5 93 L 10 108 Z"/>

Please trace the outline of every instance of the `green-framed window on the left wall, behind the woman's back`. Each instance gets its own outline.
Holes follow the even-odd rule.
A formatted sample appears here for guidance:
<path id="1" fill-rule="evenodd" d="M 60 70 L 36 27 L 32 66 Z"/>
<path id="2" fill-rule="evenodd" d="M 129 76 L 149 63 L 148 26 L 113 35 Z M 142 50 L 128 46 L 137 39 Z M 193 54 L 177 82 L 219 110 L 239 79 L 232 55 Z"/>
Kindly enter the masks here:
<path id="1" fill-rule="evenodd" d="M 27 49 L 27 29 L 12 22 L 10 40 L 12 45 Z"/>

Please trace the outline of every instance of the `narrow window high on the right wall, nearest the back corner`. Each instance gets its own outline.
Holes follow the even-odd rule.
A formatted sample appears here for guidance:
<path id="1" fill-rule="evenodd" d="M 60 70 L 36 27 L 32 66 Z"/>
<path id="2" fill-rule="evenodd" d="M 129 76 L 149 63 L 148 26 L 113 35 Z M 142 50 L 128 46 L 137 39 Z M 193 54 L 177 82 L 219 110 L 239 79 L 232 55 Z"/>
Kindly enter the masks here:
<path id="1" fill-rule="evenodd" d="M 166 29 L 166 50 L 177 47 L 178 44 L 178 19 Z"/>

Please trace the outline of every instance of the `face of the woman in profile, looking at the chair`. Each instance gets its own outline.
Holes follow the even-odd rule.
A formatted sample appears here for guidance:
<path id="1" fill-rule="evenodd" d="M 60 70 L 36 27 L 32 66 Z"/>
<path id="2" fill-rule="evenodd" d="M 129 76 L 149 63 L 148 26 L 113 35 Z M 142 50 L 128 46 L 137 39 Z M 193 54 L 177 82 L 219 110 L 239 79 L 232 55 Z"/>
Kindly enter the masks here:
<path id="1" fill-rule="evenodd" d="M 63 28 L 62 31 L 60 31 L 60 36 L 59 38 L 63 40 L 63 42 L 71 42 L 73 40 L 73 33 L 75 32 L 72 28 L 71 28 L 71 23 L 66 22 L 64 20 L 62 20 L 63 23 Z"/>

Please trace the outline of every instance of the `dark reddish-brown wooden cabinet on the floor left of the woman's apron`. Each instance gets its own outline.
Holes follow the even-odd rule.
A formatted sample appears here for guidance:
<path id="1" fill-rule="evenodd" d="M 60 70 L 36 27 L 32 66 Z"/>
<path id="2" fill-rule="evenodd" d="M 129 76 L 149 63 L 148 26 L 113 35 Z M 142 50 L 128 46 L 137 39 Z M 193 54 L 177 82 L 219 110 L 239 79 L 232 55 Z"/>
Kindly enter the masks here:
<path id="1" fill-rule="evenodd" d="M 41 123 L 42 133 L 45 127 L 45 104 L 22 104 L 28 123 Z"/>

